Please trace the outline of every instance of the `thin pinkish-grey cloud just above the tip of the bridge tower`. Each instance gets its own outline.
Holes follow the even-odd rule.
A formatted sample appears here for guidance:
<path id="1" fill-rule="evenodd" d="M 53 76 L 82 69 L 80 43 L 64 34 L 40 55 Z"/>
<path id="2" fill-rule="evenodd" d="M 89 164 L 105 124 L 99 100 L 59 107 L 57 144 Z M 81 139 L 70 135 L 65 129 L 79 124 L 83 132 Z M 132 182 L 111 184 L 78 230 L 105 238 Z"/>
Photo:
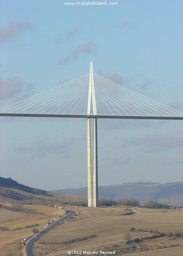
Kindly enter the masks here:
<path id="1" fill-rule="evenodd" d="M 59 61 L 59 63 L 61 65 L 67 64 L 69 61 L 75 60 L 82 55 L 89 55 L 90 53 L 94 52 L 95 49 L 96 45 L 92 43 L 80 45 L 76 47 L 69 56 Z"/>

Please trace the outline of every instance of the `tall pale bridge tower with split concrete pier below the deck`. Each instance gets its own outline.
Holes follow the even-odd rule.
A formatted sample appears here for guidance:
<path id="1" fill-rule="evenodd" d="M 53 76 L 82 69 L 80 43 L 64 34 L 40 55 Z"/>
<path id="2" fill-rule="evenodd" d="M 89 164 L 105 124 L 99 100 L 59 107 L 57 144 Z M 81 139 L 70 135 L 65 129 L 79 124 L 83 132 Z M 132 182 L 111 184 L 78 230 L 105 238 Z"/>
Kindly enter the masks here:
<path id="1" fill-rule="evenodd" d="M 93 64 L 90 62 L 88 111 L 97 115 L 94 87 Z M 93 129 L 92 127 L 93 126 Z M 97 157 L 97 118 L 87 118 L 87 153 L 88 153 L 88 207 L 98 206 L 98 157 Z"/>

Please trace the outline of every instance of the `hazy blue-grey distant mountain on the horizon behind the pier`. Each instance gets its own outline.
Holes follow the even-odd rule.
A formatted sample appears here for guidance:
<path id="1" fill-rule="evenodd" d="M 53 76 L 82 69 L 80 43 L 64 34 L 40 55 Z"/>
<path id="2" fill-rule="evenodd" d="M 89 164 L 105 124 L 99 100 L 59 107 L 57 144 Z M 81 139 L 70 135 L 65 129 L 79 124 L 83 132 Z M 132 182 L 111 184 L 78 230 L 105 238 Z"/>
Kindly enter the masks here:
<path id="1" fill-rule="evenodd" d="M 54 192 L 87 196 L 87 187 L 79 189 L 57 189 Z M 119 185 L 100 186 L 99 198 L 124 200 L 137 199 L 140 204 L 146 201 L 158 201 L 174 206 L 183 206 L 183 182 L 173 183 L 123 183 Z"/>

